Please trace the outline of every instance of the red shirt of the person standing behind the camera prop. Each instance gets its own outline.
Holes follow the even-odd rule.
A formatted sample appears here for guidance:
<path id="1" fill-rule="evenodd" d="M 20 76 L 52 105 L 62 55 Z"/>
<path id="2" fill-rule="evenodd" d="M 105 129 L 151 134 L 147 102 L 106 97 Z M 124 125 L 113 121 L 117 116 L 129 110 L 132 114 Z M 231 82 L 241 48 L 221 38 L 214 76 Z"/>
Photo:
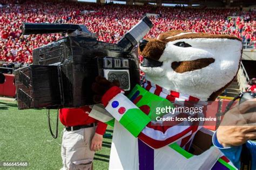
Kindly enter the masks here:
<path id="1" fill-rule="evenodd" d="M 78 126 L 91 123 L 98 123 L 96 133 L 104 134 L 107 124 L 99 122 L 89 116 L 91 108 L 88 106 L 80 108 L 64 108 L 59 109 L 59 120 L 64 126 Z"/>

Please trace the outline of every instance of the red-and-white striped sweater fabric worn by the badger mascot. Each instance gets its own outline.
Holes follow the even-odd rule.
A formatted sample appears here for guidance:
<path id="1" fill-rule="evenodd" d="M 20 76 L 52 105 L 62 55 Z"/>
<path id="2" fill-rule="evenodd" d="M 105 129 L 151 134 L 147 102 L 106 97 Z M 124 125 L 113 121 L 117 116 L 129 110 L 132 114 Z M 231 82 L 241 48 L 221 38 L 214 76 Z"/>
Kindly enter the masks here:
<path id="1" fill-rule="evenodd" d="M 150 91 L 150 93 L 166 98 L 177 105 L 182 105 L 186 101 L 191 101 L 192 103 L 196 103 L 196 105 L 202 105 L 202 103 L 203 105 L 207 104 L 207 102 L 201 102 L 199 98 L 177 93 L 176 91 L 168 91 L 149 81 L 146 81 L 143 87 L 147 91 Z M 186 116 L 184 113 L 177 115 L 177 117 Z M 138 138 L 153 148 L 160 148 L 177 142 L 185 150 L 188 150 L 194 134 L 201 128 L 201 125 L 199 125 L 199 122 L 191 122 L 189 125 L 188 122 L 186 124 L 183 123 L 166 125 L 164 122 L 150 122 L 139 134 Z"/>

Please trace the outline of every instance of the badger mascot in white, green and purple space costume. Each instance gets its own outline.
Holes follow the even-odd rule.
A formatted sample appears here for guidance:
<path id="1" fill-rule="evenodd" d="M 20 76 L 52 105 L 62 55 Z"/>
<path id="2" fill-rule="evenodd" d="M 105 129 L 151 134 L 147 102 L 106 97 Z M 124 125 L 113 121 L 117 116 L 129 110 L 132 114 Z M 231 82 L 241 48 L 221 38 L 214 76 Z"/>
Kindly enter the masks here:
<path id="1" fill-rule="evenodd" d="M 182 103 L 193 102 L 204 107 L 206 101 L 214 101 L 237 75 L 241 50 L 237 37 L 173 30 L 140 41 L 139 55 L 144 58 L 140 69 L 146 81 L 129 95 L 97 77 L 93 91 L 109 115 L 100 116 L 99 111 L 90 116 L 114 122 L 109 168 L 234 169 L 211 144 L 199 146 L 211 143 L 211 132 L 200 122 L 170 125 L 152 115 L 156 105 L 181 103 L 182 107 Z"/>

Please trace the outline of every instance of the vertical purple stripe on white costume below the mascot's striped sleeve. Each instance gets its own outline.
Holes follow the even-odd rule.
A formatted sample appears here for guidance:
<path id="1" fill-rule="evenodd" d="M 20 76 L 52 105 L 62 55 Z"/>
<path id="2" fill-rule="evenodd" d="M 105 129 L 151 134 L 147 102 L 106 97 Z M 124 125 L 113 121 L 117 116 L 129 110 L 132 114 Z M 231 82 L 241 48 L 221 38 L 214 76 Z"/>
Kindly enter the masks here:
<path id="1" fill-rule="evenodd" d="M 139 147 L 139 170 L 154 169 L 154 150 L 138 139 Z"/>

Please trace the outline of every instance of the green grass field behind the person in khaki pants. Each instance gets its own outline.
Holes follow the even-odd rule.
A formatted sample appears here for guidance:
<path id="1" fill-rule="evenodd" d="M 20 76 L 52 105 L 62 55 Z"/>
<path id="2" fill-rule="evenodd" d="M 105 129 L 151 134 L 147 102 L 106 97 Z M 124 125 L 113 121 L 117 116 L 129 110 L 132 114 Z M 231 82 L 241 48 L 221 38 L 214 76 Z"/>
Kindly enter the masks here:
<path id="1" fill-rule="evenodd" d="M 50 115 L 54 133 L 57 110 L 52 110 Z M 60 144 L 64 126 L 59 122 L 59 136 L 53 139 L 45 109 L 18 110 L 16 102 L 0 100 L 0 124 L 0 162 L 29 162 L 25 169 L 62 167 Z M 106 133 L 112 134 L 111 127 L 108 127 Z M 108 168 L 110 146 L 111 139 L 104 138 L 103 149 L 96 152 L 93 161 L 94 169 Z"/>

